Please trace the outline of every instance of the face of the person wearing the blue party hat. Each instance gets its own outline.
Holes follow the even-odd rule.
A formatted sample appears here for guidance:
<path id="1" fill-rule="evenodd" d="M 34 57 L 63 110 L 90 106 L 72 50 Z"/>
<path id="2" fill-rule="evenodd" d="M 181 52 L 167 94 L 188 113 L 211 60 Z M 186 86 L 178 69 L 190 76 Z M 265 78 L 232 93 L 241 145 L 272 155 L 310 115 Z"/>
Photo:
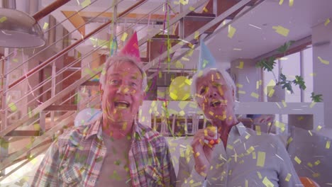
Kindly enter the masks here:
<path id="1" fill-rule="evenodd" d="M 234 91 L 219 72 L 211 71 L 197 79 L 196 101 L 210 120 L 226 120 L 234 116 Z"/>

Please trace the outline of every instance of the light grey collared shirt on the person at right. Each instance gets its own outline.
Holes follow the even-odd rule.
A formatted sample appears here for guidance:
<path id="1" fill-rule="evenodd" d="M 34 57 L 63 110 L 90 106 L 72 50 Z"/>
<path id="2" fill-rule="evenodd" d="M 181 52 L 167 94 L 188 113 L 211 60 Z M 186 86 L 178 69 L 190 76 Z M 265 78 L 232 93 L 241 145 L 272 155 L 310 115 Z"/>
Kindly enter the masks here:
<path id="1" fill-rule="evenodd" d="M 194 169 L 192 152 L 187 150 L 179 158 L 177 186 L 302 186 L 280 139 L 260 135 L 242 123 L 231 128 L 226 149 L 222 142 L 216 145 L 204 179 Z"/>

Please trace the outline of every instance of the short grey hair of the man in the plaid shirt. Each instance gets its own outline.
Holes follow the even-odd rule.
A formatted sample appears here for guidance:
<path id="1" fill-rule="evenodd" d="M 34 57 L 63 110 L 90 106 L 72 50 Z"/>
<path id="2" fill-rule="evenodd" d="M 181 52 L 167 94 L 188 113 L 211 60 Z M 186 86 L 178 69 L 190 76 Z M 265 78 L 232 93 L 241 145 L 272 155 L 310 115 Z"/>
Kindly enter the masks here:
<path id="1" fill-rule="evenodd" d="M 114 56 L 109 57 L 106 62 L 103 71 L 101 72 L 99 83 L 101 84 L 101 89 L 104 90 L 104 85 L 106 84 L 106 72 L 109 70 L 111 66 L 119 66 L 123 62 L 130 62 L 131 64 L 134 64 L 138 69 L 140 69 L 140 74 L 142 74 L 143 80 L 142 80 L 142 91 L 145 92 L 148 88 L 148 80 L 146 77 L 146 74 L 143 70 L 143 68 L 140 66 L 140 62 L 135 58 L 131 56 Z"/>

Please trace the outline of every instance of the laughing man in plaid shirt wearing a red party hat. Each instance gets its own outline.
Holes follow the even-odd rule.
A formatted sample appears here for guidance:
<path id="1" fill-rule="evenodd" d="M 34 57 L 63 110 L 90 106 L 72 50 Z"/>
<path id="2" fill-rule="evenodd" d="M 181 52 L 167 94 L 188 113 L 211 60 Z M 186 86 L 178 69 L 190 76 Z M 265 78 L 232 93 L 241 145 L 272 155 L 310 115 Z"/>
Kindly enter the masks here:
<path id="1" fill-rule="evenodd" d="M 32 186 L 175 186 L 165 138 L 135 120 L 147 87 L 137 44 L 134 33 L 120 55 L 106 60 L 102 115 L 52 144 Z"/>

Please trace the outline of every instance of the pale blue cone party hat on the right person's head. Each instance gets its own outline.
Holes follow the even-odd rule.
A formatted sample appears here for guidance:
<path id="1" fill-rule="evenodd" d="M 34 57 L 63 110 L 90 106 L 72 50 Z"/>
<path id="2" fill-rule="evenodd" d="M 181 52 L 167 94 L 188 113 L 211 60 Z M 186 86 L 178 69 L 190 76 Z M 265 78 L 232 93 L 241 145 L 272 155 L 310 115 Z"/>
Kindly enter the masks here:
<path id="1" fill-rule="evenodd" d="M 216 60 L 211 54 L 209 48 L 205 45 L 203 38 L 201 38 L 201 51 L 199 52 L 198 70 L 203 70 L 205 68 L 216 68 Z"/>

